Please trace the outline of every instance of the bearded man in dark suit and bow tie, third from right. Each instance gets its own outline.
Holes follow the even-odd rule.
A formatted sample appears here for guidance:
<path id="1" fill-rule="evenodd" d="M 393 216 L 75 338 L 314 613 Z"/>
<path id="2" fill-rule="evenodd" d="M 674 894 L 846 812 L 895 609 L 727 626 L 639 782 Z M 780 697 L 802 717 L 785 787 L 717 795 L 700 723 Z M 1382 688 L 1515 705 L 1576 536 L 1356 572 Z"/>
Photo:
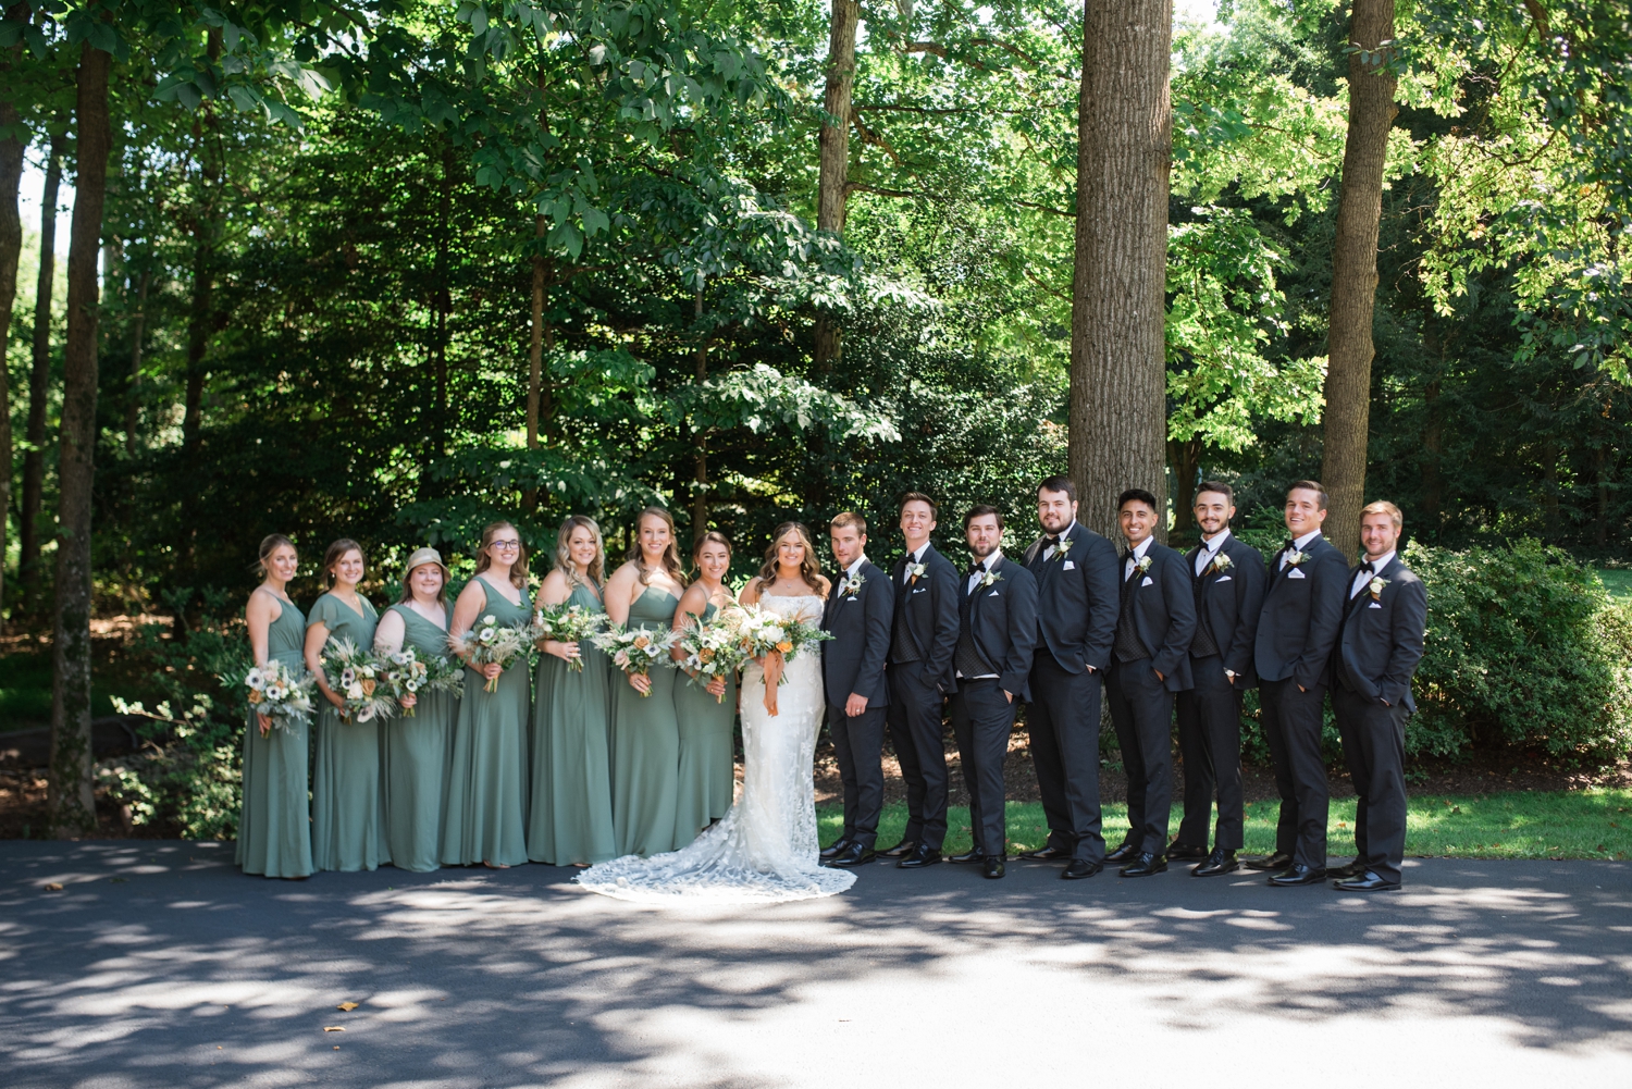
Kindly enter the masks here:
<path id="1" fill-rule="evenodd" d="M 1263 555 L 1229 531 L 1235 493 L 1204 480 L 1196 490 L 1201 544 L 1185 562 L 1195 580 L 1196 635 L 1190 642 L 1195 687 L 1178 694 L 1178 751 L 1185 758 L 1185 820 L 1169 859 L 1204 859 L 1195 877 L 1240 869 L 1244 800 L 1240 787 L 1240 697 L 1258 682 L 1252 647 L 1263 609 Z M 1219 820 L 1208 852 L 1213 795 Z"/>

